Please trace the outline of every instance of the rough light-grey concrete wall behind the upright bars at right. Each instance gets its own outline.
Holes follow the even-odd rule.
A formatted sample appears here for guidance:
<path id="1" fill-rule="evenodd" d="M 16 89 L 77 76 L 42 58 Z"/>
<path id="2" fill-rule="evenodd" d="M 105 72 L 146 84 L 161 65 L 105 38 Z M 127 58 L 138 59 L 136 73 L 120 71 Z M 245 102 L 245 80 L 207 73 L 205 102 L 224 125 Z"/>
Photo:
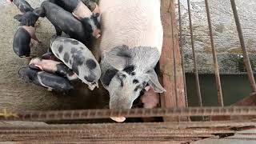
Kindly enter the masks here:
<path id="1" fill-rule="evenodd" d="M 187 14 L 187 1 L 182 3 L 182 46 L 185 54 L 185 67 L 187 72 L 194 70 L 191 51 L 190 27 Z M 256 2 L 251 0 L 237 0 L 237 8 L 242 23 L 243 35 L 256 71 Z M 239 74 L 242 70 L 242 54 L 238 33 L 234 23 L 234 15 L 230 0 L 209 0 L 210 15 L 214 30 L 214 42 L 218 51 L 220 72 L 223 74 Z M 177 6 L 178 7 L 178 6 Z M 198 67 L 200 73 L 213 73 L 210 37 L 206 8 L 204 0 L 191 0 L 191 14 L 194 30 L 195 50 L 198 55 Z M 178 15 L 177 15 L 178 18 Z"/>

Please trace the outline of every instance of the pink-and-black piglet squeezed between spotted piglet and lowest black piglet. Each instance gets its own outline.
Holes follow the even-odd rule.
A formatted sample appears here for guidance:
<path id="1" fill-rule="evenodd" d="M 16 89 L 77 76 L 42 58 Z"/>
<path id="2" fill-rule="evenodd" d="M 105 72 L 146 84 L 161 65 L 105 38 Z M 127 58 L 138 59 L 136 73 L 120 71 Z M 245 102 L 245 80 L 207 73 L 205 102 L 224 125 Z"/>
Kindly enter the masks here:
<path id="1" fill-rule="evenodd" d="M 56 62 L 53 60 L 46 60 L 41 58 L 33 58 L 30 61 L 29 65 L 38 67 L 38 69 L 46 71 L 48 73 L 58 74 L 59 76 L 68 78 L 70 81 L 78 79 L 78 76 L 74 74 L 74 72 L 62 62 Z"/>

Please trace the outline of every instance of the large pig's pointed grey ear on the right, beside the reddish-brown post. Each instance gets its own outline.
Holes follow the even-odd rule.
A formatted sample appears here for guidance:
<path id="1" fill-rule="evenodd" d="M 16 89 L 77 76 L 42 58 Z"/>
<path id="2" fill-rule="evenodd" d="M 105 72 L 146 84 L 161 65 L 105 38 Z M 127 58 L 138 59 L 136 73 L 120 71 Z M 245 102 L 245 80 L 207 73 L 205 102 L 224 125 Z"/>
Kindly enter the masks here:
<path id="1" fill-rule="evenodd" d="M 154 92 L 166 92 L 166 90 L 161 86 L 160 82 L 158 81 L 158 75 L 155 73 L 154 70 L 149 70 L 146 74 L 150 78 L 150 81 L 148 83 L 150 84 L 150 86 L 153 87 Z"/>

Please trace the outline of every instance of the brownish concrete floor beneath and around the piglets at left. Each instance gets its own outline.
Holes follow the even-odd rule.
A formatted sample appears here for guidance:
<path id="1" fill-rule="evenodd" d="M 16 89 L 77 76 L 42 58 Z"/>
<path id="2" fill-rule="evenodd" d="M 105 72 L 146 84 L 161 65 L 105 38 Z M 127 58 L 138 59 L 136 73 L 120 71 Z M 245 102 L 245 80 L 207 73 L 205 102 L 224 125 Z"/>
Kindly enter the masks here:
<path id="1" fill-rule="evenodd" d="M 28 0 L 31 6 L 40 6 L 40 1 Z M 80 82 L 75 83 L 75 90 L 69 94 L 55 94 L 46 89 L 25 83 L 18 78 L 18 70 L 26 66 L 25 58 L 18 58 L 12 49 L 12 42 L 18 22 L 14 15 L 18 14 L 15 6 L 0 2 L 0 110 L 65 110 L 107 108 L 108 95 L 105 90 L 91 92 Z M 42 55 L 48 49 L 54 27 L 46 18 L 39 19 L 36 31 L 42 44 L 34 44 L 31 54 Z"/>

